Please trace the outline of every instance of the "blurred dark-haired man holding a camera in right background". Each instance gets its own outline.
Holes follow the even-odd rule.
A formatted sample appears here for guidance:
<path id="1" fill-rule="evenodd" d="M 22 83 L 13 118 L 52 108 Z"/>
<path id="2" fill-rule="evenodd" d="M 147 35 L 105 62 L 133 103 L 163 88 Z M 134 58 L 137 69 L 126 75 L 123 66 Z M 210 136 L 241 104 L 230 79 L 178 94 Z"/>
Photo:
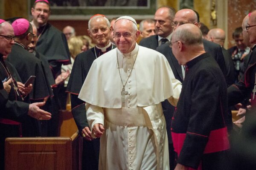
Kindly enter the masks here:
<path id="1" fill-rule="evenodd" d="M 228 52 L 233 59 L 234 67 L 236 70 L 236 82 L 239 82 L 241 78 L 241 76 L 239 76 L 239 72 L 241 70 L 241 67 L 244 65 L 244 57 L 250 52 L 250 48 L 247 47 L 243 42 L 244 38 L 242 32 L 242 27 L 238 27 L 235 29 L 232 37 L 236 42 L 236 45 L 228 49 Z"/>

